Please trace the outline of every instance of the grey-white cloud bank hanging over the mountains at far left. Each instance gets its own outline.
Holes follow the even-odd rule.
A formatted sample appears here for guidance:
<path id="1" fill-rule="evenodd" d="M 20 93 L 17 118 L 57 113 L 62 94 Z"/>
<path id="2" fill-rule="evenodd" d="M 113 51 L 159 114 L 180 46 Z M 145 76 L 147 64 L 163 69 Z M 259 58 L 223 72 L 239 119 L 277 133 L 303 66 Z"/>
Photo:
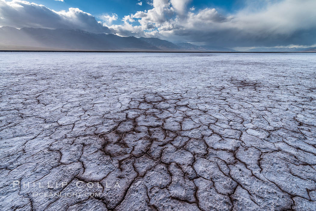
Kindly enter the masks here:
<path id="1" fill-rule="evenodd" d="M 0 0 L 0 26 L 15 28 L 66 28 L 89 32 L 110 33 L 95 17 L 78 8 L 55 11 L 41 4 L 27 1 Z"/>

